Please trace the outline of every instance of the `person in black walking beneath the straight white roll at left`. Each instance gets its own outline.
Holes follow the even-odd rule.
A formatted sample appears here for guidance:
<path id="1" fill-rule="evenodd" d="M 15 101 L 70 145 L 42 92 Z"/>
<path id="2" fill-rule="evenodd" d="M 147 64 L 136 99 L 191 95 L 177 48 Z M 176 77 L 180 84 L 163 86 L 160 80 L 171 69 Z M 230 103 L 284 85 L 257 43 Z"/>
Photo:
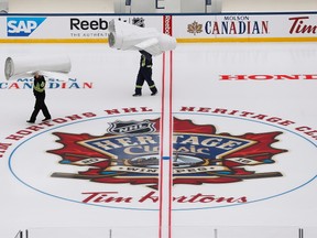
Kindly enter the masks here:
<path id="1" fill-rule="evenodd" d="M 51 115 L 45 104 L 45 78 L 43 75 L 40 75 L 39 72 L 34 74 L 34 84 L 33 84 L 33 94 L 35 96 L 35 106 L 34 110 L 31 115 L 30 120 L 26 122 L 34 123 L 40 110 L 42 110 L 44 115 L 44 119 L 42 121 L 51 120 Z"/>

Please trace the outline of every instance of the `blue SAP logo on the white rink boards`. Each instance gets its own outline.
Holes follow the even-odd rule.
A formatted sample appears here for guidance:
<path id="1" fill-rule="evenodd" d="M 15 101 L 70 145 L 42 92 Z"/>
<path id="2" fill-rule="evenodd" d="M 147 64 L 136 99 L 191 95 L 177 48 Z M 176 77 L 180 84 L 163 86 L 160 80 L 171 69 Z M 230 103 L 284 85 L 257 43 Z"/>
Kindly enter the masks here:
<path id="1" fill-rule="evenodd" d="M 29 36 L 46 18 L 7 18 L 8 36 Z"/>

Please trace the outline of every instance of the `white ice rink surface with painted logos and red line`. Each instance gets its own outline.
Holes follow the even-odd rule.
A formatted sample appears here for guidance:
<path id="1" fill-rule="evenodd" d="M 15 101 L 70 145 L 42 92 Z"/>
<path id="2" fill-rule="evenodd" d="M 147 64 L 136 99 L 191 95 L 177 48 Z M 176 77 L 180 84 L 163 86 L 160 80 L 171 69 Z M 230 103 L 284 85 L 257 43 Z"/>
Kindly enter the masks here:
<path id="1" fill-rule="evenodd" d="M 72 62 L 68 79 L 46 78 L 45 123 L 26 123 L 32 78 L 0 78 L 1 238 L 317 236 L 316 43 L 178 44 L 153 58 L 158 94 L 136 98 L 139 52 L 0 53 L 3 69 Z"/>

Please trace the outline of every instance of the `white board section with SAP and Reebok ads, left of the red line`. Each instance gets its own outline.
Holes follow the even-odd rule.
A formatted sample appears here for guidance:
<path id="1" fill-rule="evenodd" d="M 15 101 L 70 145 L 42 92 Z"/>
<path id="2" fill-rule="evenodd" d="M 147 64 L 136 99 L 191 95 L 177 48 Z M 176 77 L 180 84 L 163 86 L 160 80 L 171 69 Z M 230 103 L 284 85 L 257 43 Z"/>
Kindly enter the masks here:
<path id="1" fill-rule="evenodd" d="M 105 42 L 112 19 L 162 31 L 162 17 L 133 15 L 10 15 L 0 18 L 6 42 Z"/>

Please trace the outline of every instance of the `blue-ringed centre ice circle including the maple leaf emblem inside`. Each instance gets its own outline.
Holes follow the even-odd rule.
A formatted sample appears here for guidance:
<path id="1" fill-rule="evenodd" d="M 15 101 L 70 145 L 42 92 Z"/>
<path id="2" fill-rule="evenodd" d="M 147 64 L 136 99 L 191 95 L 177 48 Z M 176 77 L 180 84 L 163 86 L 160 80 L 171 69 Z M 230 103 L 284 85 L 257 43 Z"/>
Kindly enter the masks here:
<path id="1" fill-rule="evenodd" d="M 170 171 L 174 210 L 274 198 L 316 177 L 316 143 L 286 122 L 174 112 L 172 169 L 166 171 L 161 113 L 91 115 L 46 122 L 52 125 L 11 153 L 12 173 L 50 196 L 149 210 L 158 209 L 160 181 Z"/>

